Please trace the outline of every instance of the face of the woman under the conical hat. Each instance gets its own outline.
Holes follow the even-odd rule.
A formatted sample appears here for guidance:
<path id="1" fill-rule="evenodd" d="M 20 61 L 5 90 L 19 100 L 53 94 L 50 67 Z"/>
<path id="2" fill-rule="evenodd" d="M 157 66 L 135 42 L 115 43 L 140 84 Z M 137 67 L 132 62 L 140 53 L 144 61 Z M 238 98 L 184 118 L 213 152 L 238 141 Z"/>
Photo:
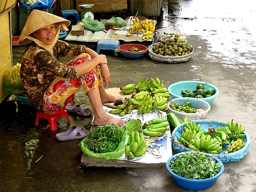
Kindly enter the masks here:
<path id="1" fill-rule="evenodd" d="M 33 32 L 33 35 L 46 45 L 51 45 L 56 35 L 56 30 L 53 24 L 38 29 Z"/>

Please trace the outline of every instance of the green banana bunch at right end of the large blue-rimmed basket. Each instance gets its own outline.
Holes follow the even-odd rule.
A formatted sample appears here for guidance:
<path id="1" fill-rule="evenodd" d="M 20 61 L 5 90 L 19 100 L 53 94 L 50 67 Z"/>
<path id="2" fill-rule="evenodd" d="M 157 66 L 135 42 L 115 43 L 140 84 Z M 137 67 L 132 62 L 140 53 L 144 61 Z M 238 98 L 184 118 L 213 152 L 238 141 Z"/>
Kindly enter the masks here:
<path id="1" fill-rule="evenodd" d="M 227 126 L 225 125 L 224 127 L 230 131 L 229 139 L 231 140 L 231 144 L 234 141 L 245 137 L 245 130 L 243 129 L 243 126 L 239 125 L 238 122 L 234 123 L 233 119 L 231 120 L 231 122 L 227 123 Z"/>

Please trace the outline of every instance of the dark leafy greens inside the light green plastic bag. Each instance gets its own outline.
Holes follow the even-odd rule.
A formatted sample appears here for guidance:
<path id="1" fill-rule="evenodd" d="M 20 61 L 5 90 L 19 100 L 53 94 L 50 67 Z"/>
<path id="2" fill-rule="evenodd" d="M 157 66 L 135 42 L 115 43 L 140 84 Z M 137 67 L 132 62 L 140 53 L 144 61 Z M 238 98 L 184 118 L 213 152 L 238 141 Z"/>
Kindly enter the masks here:
<path id="1" fill-rule="evenodd" d="M 90 151 L 94 153 L 114 152 L 118 147 L 124 129 L 120 126 L 105 125 L 91 130 L 86 138 L 84 138 Z"/>

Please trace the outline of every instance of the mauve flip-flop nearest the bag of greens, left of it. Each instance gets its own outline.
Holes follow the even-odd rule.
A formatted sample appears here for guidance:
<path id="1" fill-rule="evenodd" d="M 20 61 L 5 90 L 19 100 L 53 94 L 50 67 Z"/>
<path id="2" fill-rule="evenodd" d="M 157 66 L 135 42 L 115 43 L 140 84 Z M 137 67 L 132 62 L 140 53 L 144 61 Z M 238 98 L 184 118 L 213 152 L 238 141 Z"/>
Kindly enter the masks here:
<path id="1" fill-rule="evenodd" d="M 59 141 L 69 141 L 69 140 L 76 140 L 76 139 L 83 139 L 88 135 L 90 130 L 83 130 L 80 127 L 72 126 L 70 129 L 63 133 L 57 133 L 55 135 L 56 139 Z"/>

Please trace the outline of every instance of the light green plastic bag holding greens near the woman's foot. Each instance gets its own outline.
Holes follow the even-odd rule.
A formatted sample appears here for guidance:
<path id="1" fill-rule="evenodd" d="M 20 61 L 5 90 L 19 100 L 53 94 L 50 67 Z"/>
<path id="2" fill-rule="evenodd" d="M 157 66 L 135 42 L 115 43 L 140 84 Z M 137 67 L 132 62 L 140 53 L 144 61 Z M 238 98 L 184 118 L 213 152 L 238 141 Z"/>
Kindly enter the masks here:
<path id="1" fill-rule="evenodd" d="M 89 150 L 87 144 L 85 143 L 86 139 L 83 139 L 81 141 L 81 150 L 84 154 L 86 154 L 88 156 L 97 157 L 97 158 L 105 158 L 108 161 L 110 159 L 117 159 L 117 158 L 122 156 L 122 154 L 124 153 L 125 145 L 127 144 L 128 140 L 129 140 L 129 135 L 127 134 L 127 132 L 125 132 L 122 135 L 121 142 L 119 143 L 118 147 L 116 148 L 116 150 L 114 152 L 94 153 L 94 152 Z"/>

